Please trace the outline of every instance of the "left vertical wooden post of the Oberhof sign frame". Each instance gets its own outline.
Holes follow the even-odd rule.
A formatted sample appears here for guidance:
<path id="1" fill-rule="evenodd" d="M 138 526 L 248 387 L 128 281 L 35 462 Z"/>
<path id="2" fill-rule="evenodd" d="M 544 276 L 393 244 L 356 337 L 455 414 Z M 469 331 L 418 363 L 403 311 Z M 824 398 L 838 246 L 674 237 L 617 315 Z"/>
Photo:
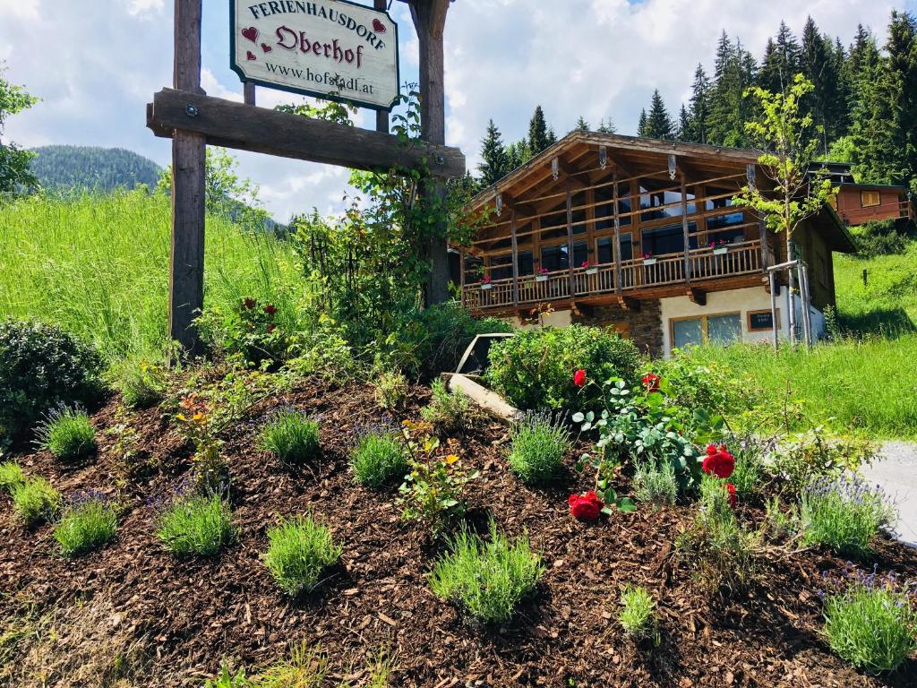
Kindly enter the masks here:
<path id="1" fill-rule="evenodd" d="M 175 0 L 176 89 L 202 94 L 201 2 Z M 191 113 L 189 113 L 189 117 Z M 189 354 L 201 352 L 193 320 L 204 308 L 204 134 L 176 129 L 172 138 L 172 227 L 169 336 Z"/>

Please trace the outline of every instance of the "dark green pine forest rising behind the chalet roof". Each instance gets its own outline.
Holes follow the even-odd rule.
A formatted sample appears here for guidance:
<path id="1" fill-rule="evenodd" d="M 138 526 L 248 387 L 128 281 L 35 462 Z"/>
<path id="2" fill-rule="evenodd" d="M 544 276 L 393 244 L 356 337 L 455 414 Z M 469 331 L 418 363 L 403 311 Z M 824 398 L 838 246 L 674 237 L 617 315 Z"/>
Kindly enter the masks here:
<path id="1" fill-rule="evenodd" d="M 689 102 L 670 108 L 655 91 L 640 113 L 637 135 L 654 139 L 750 147 L 746 122 L 755 101 L 747 90 L 782 91 L 797 73 L 814 84 L 802 104 L 812 116 L 823 159 L 850 162 L 860 182 L 904 184 L 917 193 L 917 19 L 893 11 L 888 38 L 880 44 L 867 27 L 856 27 L 849 44 L 832 38 L 809 17 L 800 37 L 781 22 L 760 60 L 741 39 L 724 31 L 713 71 L 694 71 Z M 611 120 L 576 128 L 613 132 Z M 482 140 L 479 187 L 488 186 L 553 143 L 557 137 L 538 105 L 528 136 L 503 143 L 491 122 Z"/>

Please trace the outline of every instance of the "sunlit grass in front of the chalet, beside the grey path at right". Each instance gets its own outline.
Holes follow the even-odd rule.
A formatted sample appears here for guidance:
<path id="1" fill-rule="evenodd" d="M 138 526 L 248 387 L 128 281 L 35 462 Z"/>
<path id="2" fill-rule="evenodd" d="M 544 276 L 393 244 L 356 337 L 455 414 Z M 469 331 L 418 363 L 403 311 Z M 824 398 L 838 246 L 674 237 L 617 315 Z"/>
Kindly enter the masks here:
<path id="1" fill-rule="evenodd" d="M 917 438 L 917 335 L 845 338 L 808 352 L 784 346 L 775 353 L 767 345 L 739 344 L 693 349 L 690 355 L 715 361 L 737 380 L 746 380 L 749 391 L 757 389 L 760 401 L 775 412 L 789 391 L 814 422 L 834 418 L 839 429 Z"/>

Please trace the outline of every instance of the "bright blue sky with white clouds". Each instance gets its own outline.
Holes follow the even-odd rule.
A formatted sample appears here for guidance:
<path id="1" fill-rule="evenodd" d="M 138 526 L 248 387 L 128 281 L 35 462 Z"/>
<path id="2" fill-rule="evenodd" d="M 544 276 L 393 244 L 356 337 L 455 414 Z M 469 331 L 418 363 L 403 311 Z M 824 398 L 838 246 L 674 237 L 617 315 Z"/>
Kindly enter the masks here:
<path id="1" fill-rule="evenodd" d="M 370 0 L 361 4 L 371 5 Z M 171 86 L 171 0 L 0 0 L 0 61 L 6 78 L 41 98 L 7 121 L 6 140 L 135 150 L 160 165 L 167 139 L 145 126 L 145 104 Z M 241 100 L 229 69 L 228 0 L 204 0 L 203 76 L 207 94 Z M 725 29 L 758 58 L 780 19 L 799 36 L 807 15 L 849 44 L 856 25 L 885 39 L 893 8 L 917 12 L 917 0 L 457 0 L 446 23 L 446 138 L 480 161 L 492 118 L 504 140 L 525 135 L 536 105 L 558 135 L 580 115 L 594 127 L 611 117 L 635 132 L 640 109 L 658 88 L 677 114 L 690 97 L 700 61 L 713 71 Z M 417 79 L 417 39 L 407 6 L 393 2 L 403 82 Z M 303 102 L 258 89 L 259 105 Z M 370 110 L 358 126 L 374 127 Z M 330 165 L 237 151 L 238 172 L 260 184 L 279 221 L 316 207 L 338 212 L 348 172 Z"/>

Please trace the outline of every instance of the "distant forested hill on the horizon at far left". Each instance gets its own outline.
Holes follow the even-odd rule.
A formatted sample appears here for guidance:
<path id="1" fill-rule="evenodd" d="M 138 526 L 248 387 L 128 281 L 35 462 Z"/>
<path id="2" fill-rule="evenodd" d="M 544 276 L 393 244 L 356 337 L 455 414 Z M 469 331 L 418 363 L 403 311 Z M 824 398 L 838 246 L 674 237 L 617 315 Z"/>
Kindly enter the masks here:
<path id="1" fill-rule="evenodd" d="M 154 188 L 160 166 L 131 150 L 90 146 L 42 146 L 35 149 L 32 172 L 53 191 L 96 192 L 133 189 L 142 183 Z"/>

